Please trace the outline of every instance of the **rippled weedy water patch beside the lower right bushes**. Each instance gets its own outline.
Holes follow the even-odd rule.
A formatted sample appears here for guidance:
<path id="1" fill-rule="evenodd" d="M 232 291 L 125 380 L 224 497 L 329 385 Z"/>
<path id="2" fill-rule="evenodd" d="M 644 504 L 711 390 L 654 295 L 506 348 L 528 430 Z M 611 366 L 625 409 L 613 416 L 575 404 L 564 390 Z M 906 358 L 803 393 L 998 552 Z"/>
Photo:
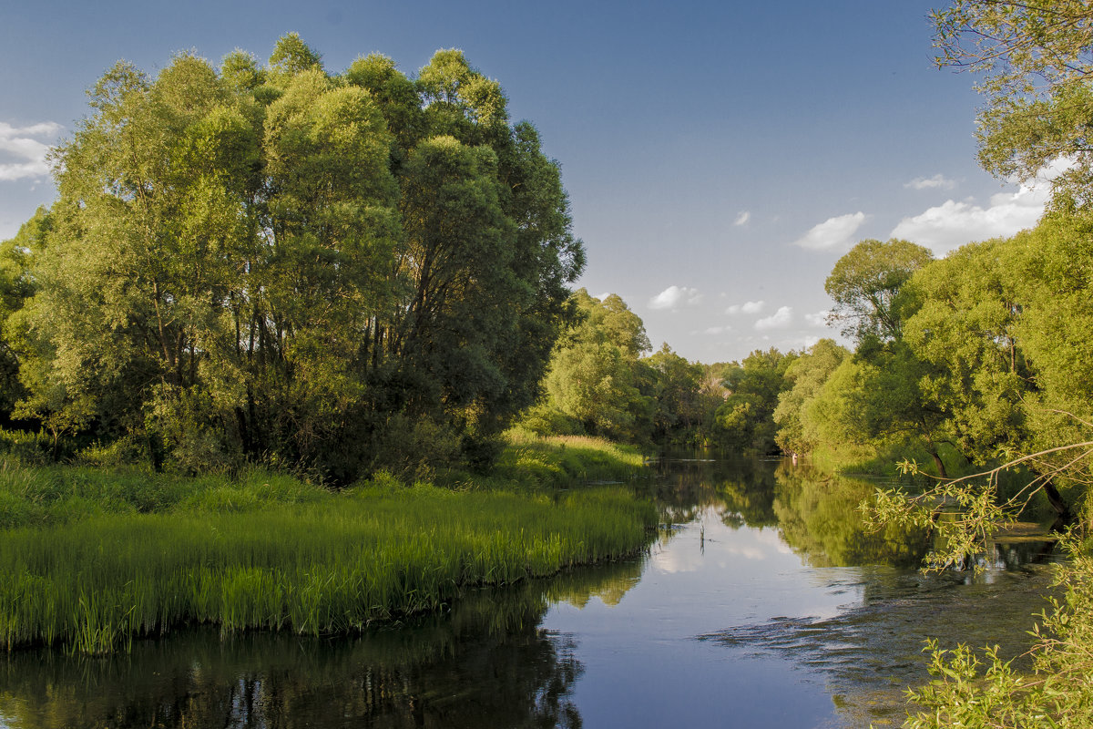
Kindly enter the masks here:
<path id="1" fill-rule="evenodd" d="M 820 672 L 845 726 L 879 727 L 901 725 L 903 690 L 930 680 L 922 656 L 928 638 L 942 648 L 999 646 L 1014 668 L 1029 668 L 1026 631 L 1045 607 L 1051 571 L 1029 562 L 976 576 L 881 566 L 834 571 L 828 579 L 859 600 L 828 618 L 775 616 L 697 637 L 747 655 L 781 655 Z"/>

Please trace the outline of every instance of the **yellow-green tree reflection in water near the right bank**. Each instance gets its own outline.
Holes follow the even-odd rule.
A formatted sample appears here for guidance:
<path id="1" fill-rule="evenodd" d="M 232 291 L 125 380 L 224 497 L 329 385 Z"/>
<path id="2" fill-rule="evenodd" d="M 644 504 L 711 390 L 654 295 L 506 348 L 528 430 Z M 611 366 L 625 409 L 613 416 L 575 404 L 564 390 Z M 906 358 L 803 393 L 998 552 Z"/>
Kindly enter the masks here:
<path id="1" fill-rule="evenodd" d="M 873 484 L 783 463 L 775 472 L 774 512 L 789 546 L 813 567 L 869 564 L 917 566 L 926 554 L 921 530 L 889 525 L 866 529 L 859 505 Z"/>

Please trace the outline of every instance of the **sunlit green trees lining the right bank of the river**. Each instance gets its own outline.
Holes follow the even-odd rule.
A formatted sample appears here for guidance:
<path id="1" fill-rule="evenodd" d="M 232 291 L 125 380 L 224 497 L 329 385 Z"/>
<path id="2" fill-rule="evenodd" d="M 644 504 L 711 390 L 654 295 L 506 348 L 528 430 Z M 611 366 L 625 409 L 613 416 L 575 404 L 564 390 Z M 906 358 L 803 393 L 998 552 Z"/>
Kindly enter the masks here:
<path id="1" fill-rule="evenodd" d="M 826 281 L 831 321 L 853 349 L 824 339 L 752 353 L 724 379 L 731 395 L 717 424 L 761 450 L 773 435 L 784 452 L 826 463 L 918 458 L 940 477 L 1088 440 L 1091 287 L 1093 215 L 1073 205 L 942 259 L 905 240 L 862 240 Z M 1056 468 L 1070 469 L 1048 457 L 1034 475 L 1069 516 L 1057 486 L 1079 486 L 1072 499 L 1084 489 Z"/>

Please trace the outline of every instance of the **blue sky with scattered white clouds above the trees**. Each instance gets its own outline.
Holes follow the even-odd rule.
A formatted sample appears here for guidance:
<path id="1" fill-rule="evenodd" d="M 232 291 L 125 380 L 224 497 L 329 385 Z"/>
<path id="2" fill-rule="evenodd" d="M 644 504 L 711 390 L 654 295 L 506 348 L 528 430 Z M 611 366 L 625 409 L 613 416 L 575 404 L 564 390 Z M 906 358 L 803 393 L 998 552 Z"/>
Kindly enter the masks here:
<path id="1" fill-rule="evenodd" d="M 703 362 L 831 336 L 823 282 L 857 240 L 938 255 L 1033 224 L 1045 185 L 975 162 L 973 79 L 937 70 L 938 2 L 56 2 L 0 0 L 0 239 L 54 197 L 44 150 L 125 58 L 267 58 L 298 32 L 331 71 L 409 74 L 461 48 L 539 128 L 588 268 Z"/>

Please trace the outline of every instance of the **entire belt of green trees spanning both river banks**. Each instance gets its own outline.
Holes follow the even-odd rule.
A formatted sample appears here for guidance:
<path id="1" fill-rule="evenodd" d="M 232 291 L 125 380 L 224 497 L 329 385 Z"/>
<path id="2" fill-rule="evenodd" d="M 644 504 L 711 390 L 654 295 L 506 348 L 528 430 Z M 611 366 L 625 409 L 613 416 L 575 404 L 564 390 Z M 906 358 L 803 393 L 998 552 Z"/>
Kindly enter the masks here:
<path id="1" fill-rule="evenodd" d="M 55 459 L 346 484 L 487 467 L 518 424 L 945 477 L 1091 416 L 1078 167 L 1011 239 L 859 243 L 826 281 L 849 348 L 701 364 L 568 289 L 559 166 L 459 51 L 330 73 L 290 34 L 265 67 L 119 63 L 91 103 L 0 249 L 0 415 Z"/>

